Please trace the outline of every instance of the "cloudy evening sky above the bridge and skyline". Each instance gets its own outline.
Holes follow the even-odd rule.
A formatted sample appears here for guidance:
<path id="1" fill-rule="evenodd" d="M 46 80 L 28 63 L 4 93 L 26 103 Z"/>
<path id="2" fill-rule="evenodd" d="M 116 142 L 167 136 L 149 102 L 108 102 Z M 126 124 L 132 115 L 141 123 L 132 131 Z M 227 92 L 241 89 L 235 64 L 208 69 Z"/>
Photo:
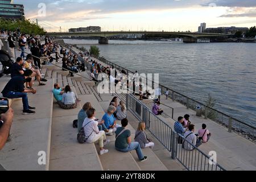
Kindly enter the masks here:
<path id="1" fill-rule="evenodd" d="M 102 31 L 197 31 L 256 26 L 256 0 L 14 0 L 46 31 L 100 26 Z"/>

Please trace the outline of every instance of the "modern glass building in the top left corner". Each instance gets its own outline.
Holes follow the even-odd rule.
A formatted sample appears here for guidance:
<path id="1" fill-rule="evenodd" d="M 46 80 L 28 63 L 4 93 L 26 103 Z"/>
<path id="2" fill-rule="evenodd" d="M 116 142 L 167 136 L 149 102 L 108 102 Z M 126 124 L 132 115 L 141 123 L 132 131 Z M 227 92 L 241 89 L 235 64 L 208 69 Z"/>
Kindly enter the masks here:
<path id="1" fill-rule="evenodd" d="M 14 4 L 13 0 L 0 0 L 0 18 L 23 19 L 24 6 Z"/>

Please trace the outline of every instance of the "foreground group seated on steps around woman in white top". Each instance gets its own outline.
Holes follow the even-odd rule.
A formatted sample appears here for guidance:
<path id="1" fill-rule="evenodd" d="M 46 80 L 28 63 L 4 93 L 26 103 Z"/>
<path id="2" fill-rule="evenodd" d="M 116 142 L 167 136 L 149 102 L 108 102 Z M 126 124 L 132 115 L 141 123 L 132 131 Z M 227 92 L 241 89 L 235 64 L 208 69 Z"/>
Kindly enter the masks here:
<path id="1" fill-rule="evenodd" d="M 100 155 L 108 153 L 108 149 L 104 148 L 110 142 L 107 135 L 115 134 L 115 149 L 121 152 L 129 152 L 135 150 L 140 161 L 147 159 L 143 155 L 142 148 L 154 147 L 151 139 L 147 138 L 146 125 L 144 122 L 139 123 L 138 130 L 135 134 L 134 142 L 131 140 L 131 131 L 127 129 L 128 119 L 126 107 L 120 101 L 117 105 L 117 97 L 110 101 L 110 105 L 102 119 L 96 118 L 96 110 L 90 102 L 86 102 L 77 115 L 77 130 L 84 131 L 86 142 L 98 143 L 100 146 Z M 122 111 L 121 118 L 116 118 L 114 113 L 118 114 L 118 109 Z M 117 120 L 121 120 L 121 125 L 118 125 Z"/>

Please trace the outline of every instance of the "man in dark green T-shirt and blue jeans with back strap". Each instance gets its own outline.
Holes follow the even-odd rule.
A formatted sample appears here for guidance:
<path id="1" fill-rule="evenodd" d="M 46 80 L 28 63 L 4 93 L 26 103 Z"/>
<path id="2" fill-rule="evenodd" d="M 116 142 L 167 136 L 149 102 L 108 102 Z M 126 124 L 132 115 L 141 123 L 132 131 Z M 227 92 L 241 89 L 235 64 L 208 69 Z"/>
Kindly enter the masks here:
<path id="1" fill-rule="evenodd" d="M 122 127 L 118 127 L 115 131 L 115 149 L 121 152 L 129 152 L 136 150 L 138 158 L 141 162 L 147 160 L 147 156 L 142 154 L 141 146 L 138 142 L 131 142 L 131 131 L 125 127 L 128 125 L 128 120 L 122 119 Z"/>

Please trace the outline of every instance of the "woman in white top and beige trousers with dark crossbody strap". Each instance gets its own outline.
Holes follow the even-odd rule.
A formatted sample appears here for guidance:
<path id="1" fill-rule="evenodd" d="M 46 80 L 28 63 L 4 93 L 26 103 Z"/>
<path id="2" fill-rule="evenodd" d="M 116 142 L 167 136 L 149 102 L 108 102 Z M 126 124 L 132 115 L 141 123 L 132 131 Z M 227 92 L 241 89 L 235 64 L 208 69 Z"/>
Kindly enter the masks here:
<path id="1" fill-rule="evenodd" d="M 85 138 L 87 143 L 98 142 L 100 146 L 100 155 L 108 153 L 109 150 L 103 147 L 110 142 L 106 139 L 105 131 L 98 130 L 98 121 L 94 121 L 96 111 L 93 107 L 86 111 L 87 118 L 84 119 L 82 127 L 84 127 Z"/>

